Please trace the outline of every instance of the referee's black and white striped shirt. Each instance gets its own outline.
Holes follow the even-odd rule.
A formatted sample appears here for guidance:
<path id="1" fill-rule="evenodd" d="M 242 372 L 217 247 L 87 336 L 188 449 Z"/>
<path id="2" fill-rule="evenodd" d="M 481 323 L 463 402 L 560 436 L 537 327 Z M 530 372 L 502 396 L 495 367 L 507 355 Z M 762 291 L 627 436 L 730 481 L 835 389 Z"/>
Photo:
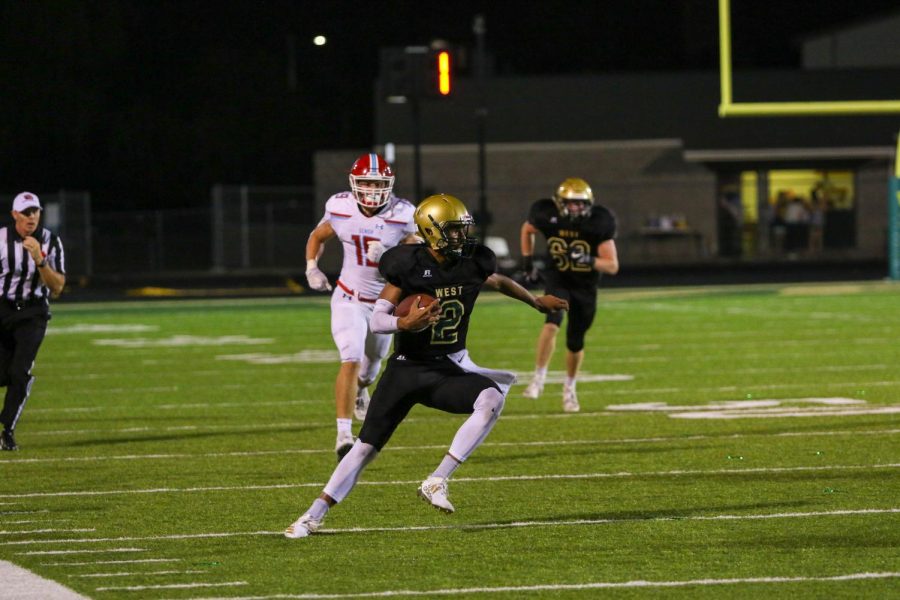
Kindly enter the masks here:
<path id="1" fill-rule="evenodd" d="M 59 236 L 38 225 L 32 237 L 40 242 L 47 264 L 60 275 L 65 275 L 66 255 Z M 0 227 L 0 269 L 4 300 L 23 304 L 50 298 L 50 290 L 41 280 L 37 265 L 22 246 L 22 236 L 14 225 Z"/>

